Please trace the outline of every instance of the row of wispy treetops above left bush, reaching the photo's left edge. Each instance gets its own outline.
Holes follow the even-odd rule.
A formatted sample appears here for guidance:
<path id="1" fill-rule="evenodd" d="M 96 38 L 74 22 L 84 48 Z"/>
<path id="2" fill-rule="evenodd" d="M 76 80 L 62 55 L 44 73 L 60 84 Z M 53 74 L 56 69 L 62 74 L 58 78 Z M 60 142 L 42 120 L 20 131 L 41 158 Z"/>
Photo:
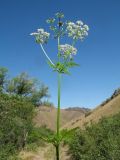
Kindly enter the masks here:
<path id="1" fill-rule="evenodd" d="M 8 70 L 0 67 L 0 93 L 26 97 L 37 106 L 44 103 L 43 99 L 48 98 L 48 87 L 37 79 L 30 78 L 25 72 L 11 79 L 7 78 Z"/>

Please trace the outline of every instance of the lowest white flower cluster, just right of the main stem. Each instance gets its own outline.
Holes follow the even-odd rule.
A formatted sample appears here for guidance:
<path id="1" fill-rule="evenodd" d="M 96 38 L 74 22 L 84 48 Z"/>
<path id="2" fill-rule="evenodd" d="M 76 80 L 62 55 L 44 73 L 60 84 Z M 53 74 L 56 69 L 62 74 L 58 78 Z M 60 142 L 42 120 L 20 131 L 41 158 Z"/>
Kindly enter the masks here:
<path id="1" fill-rule="evenodd" d="M 69 44 L 59 45 L 60 55 L 65 58 L 72 58 L 72 56 L 76 55 L 77 49 Z"/>

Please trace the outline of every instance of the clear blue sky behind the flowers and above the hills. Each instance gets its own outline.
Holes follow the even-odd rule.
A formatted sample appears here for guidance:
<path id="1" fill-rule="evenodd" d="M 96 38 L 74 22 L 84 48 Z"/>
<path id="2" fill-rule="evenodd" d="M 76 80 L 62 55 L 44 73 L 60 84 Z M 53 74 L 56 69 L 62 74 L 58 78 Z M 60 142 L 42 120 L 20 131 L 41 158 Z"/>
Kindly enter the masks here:
<path id="1" fill-rule="evenodd" d="M 58 11 L 67 20 L 80 19 L 90 27 L 89 36 L 76 46 L 80 67 L 62 79 L 61 105 L 95 107 L 120 87 L 119 0 L 0 0 L 0 66 L 12 77 L 25 71 L 44 82 L 57 105 L 57 75 L 29 33 L 47 30 L 45 20 Z M 54 59 L 55 40 L 45 48 Z"/>

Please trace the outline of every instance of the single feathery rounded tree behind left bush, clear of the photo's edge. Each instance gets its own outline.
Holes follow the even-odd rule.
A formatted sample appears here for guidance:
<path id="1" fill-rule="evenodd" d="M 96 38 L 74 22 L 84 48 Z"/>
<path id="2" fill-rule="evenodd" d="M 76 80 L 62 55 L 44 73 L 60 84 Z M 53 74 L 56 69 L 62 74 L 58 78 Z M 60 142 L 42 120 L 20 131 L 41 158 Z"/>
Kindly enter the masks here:
<path id="1" fill-rule="evenodd" d="M 34 105 L 40 105 L 44 97 L 49 97 L 48 87 L 30 78 L 25 72 L 9 80 L 6 91 L 11 95 L 27 97 Z"/>

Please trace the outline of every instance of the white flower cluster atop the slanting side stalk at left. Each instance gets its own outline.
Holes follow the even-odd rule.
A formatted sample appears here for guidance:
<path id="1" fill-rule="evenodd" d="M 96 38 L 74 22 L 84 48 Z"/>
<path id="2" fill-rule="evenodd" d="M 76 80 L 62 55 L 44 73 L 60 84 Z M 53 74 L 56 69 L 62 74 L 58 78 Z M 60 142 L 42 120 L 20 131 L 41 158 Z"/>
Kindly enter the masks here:
<path id="1" fill-rule="evenodd" d="M 37 32 L 31 33 L 30 35 L 35 36 L 37 43 L 44 44 L 47 43 L 50 33 L 45 32 L 44 29 L 40 28 Z"/>

